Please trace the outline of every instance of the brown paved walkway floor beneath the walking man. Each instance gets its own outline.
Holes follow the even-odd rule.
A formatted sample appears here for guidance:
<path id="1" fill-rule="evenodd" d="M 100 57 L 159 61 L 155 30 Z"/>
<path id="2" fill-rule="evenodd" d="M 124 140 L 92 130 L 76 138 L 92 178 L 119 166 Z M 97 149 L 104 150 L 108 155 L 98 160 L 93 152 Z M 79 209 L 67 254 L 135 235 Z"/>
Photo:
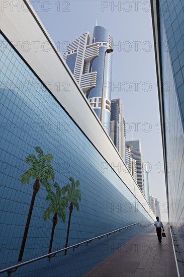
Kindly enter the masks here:
<path id="1" fill-rule="evenodd" d="M 136 236 L 83 277 L 177 277 L 168 223 L 164 230 L 162 243 L 156 230 Z"/>

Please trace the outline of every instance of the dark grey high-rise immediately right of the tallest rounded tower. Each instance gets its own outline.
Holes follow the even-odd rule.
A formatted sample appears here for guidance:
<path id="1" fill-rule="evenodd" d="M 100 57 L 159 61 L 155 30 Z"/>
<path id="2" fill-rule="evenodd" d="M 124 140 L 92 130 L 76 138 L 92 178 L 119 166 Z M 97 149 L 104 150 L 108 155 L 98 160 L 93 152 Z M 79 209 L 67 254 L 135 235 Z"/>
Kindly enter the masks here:
<path id="1" fill-rule="evenodd" d="M 120 98 L 111 100 L 110 137 L 125 161 L 125 121 L 123 119 L 123 104 Z"/>

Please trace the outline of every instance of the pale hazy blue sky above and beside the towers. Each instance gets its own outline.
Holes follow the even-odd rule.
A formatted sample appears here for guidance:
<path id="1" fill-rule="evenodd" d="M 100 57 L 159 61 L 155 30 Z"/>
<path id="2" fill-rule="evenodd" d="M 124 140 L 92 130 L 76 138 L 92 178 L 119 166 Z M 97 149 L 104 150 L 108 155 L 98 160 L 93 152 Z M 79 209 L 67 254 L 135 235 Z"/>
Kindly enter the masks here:
<path id="1" fill-rule="evenodd" d="M 121 98 L 126 137 L 140 138 L 150 193 L 167 221 L 163 154 L 149 1 L 30 0 L 61 55 L 68 43 L 98 25 L 114 40 L 112 98 Z"/>

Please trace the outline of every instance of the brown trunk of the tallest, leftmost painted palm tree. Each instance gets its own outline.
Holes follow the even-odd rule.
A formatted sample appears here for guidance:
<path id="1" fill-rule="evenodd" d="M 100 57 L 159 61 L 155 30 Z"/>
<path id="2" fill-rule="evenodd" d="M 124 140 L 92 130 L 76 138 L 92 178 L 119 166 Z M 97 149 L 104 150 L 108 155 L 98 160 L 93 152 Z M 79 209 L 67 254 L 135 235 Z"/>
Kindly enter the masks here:
<path id="1" fill-rule="evenodd" d="M 26 244 L 26 239 L 27 239 L 28 230 L 29 230 L 29 224 L 30 224 L 30 220 L 31 220 L 31 215 L 32 215 L 32 212 L 33 212 L 35 196 L 38 193 L 39 189 L 40 189 L 40 182 L 39 182 L 39 179 L 36 179 L 36 181 L 33 185 L 33 195 L 32 195 L 31 204 L 30 204 L 30 207 L 29 207 L 29 214 L 28 214 L 28 218 L 27 218 L 27 222 L 26 222 L 26 227 L 25 227 L 25 230 L 24 230 L 24 236 L 23 236 L 23 240 L 22 240 L 22 245 L 21 245 L 21 250 L 20 250 L 20 253 L 19 253 L 18 261 L 22 261 L 22 257 L 23 257 L 23 253 L 24 253 L 24 247 L 25 247 L 25 244 Z"/>

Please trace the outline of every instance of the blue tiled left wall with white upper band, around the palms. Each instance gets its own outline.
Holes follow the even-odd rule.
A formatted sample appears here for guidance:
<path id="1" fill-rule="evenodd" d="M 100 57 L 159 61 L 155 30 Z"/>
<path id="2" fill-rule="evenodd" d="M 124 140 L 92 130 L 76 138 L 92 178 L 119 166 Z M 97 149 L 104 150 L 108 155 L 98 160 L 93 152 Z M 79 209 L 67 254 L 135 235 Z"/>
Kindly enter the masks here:
<path id="1" fill-rule="evenodd" d="M 19 3 L 14 1 L 14 5 Z M 32 178 L 22 184 L 21 175 L 30 168 L 26 157 L 34 154 L 39 158 L 35 147 L 53 156 L 55 177 L 51 185 L 57 182 L 62 188 L 70 177 L 79 180 L 81 201 L 78 200 L 79 211 L 74 208 L 72 212 L 68 246 L 132 223 L 148 225 L 154 221 L 132 176 L 116 166 L 122 166 L 123 160 L 108 134 L 102 132 L 101 122 L 68 66 L 36 13 L 27 1 L 24 4 L 27 10 L 12 12 L 9 6 L 1 11 L 1 269 L 18 264 L 34 184 Z M 50 51 L 24 51 L 17 47 L 18 43 L 38 40 L 41 44 L 47 41 Z M 80 109 L 73 103 L 80 103 Z M 52 189 L 57 192 L 53 186 Z M 47 195 L 46 188 L 40 185 L 23 262 L 48 253 L 53 214 L 44 221 L 43 214 L 50 203 Z M 52 251 L 65 247 L 68 218 L 66 207 L 65 223 L 58 218 L 55 227 Z M 81 276 L 133 236 L 153 229 L 152 225 L 136 225 L 74 251 L 70 249 L 66 256 L 61 252 L 50 260 L 44 258 L 22 266 L 12 275 Z M 7 276 L 7 272 L 2 276 Z"/>

